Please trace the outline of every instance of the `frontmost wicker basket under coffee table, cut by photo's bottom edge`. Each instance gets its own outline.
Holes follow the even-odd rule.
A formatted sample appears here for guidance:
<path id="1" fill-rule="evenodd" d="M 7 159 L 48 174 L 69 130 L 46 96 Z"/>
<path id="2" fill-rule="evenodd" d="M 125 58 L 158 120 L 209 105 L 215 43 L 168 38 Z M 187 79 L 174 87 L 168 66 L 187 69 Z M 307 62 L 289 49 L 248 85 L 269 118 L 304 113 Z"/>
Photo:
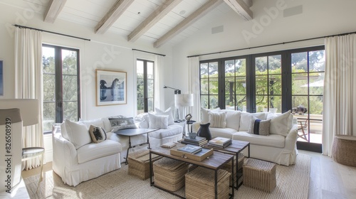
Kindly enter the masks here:
<path id="1" fill-rule="evenodd" d="M 215 172 L 207 168 L 196 168 L 185 175 L 186 198 L 215 198 Z M 223 169 L 218 171 L 218 198 L 229 198 L 229 177 Z"/>

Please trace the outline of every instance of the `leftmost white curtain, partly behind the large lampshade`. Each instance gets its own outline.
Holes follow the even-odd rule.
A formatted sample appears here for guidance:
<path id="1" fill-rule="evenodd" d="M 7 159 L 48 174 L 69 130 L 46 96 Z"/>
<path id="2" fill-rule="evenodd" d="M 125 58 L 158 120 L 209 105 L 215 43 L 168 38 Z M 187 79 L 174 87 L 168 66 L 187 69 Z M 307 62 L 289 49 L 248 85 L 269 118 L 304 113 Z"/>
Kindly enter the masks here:
<path id="1" fill-rule="evenodd" d="M 27 28 L 15 31 L 15 97 L 39 99 L 42 114 L 42 33 Z M 42 117 L 36 125 L 23 127 L 23 147 L 43 147 Z M 39 159 L 26 161 L 25 169 L 39 166 Z"/>

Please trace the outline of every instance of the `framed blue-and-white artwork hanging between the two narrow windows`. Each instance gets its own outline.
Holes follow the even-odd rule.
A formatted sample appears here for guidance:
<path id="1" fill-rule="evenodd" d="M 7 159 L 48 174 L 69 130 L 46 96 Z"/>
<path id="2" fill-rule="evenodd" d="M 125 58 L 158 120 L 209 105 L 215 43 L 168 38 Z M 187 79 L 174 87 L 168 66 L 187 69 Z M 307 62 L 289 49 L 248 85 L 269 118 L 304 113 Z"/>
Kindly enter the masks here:
<path id="1" fill-rule="evenodd" d="M 96 105 L 126 104 L 126 72 L 96 70 Z"/>

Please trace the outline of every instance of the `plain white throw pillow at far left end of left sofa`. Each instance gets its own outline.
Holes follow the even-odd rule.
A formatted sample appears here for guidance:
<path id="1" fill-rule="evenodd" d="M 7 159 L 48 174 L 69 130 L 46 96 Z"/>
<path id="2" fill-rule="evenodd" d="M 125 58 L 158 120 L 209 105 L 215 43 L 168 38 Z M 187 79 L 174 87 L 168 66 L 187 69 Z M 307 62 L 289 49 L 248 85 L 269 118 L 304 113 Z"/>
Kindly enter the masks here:
<path id="1" fill-rule="evenodd" d="M 75 149 L 79 149 L 81 146 L 91 142 L 90 134 L 85 124 L 70 122 L 69 119 L 66 119 L 65 124 L 68 139 L 74 145 Z"/>

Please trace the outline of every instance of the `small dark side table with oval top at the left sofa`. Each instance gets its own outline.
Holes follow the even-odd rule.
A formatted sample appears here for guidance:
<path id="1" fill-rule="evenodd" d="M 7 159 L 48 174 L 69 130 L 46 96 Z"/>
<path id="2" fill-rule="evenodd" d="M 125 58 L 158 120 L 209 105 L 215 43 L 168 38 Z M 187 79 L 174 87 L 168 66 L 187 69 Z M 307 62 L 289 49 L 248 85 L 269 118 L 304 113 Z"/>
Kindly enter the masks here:
<path id="1" fill-rule="evenodd" d="M 142 146 L 143 144 L 148 144 L 148 149 L 151 149 L 150 146 L 150 140 L 148 139 L 148 133 L 157 131 L 159 129 L 122 129 L 115 131 L 114 133 L 120 136 L 129 136 L 129 147 L 127 148 L 126 152 L 126 161 L 125 164 L 127 164 L 127 159 L 129 157 L 129 150 L 132 148 L 135 148 L 136 146 Z M 136 144 L 134 146 L 131 145 L 131 136 L 137 136 L 137 135 L 142 135 L 142 134 L 147 134 L 147 141 L 144 143 Z"/>

